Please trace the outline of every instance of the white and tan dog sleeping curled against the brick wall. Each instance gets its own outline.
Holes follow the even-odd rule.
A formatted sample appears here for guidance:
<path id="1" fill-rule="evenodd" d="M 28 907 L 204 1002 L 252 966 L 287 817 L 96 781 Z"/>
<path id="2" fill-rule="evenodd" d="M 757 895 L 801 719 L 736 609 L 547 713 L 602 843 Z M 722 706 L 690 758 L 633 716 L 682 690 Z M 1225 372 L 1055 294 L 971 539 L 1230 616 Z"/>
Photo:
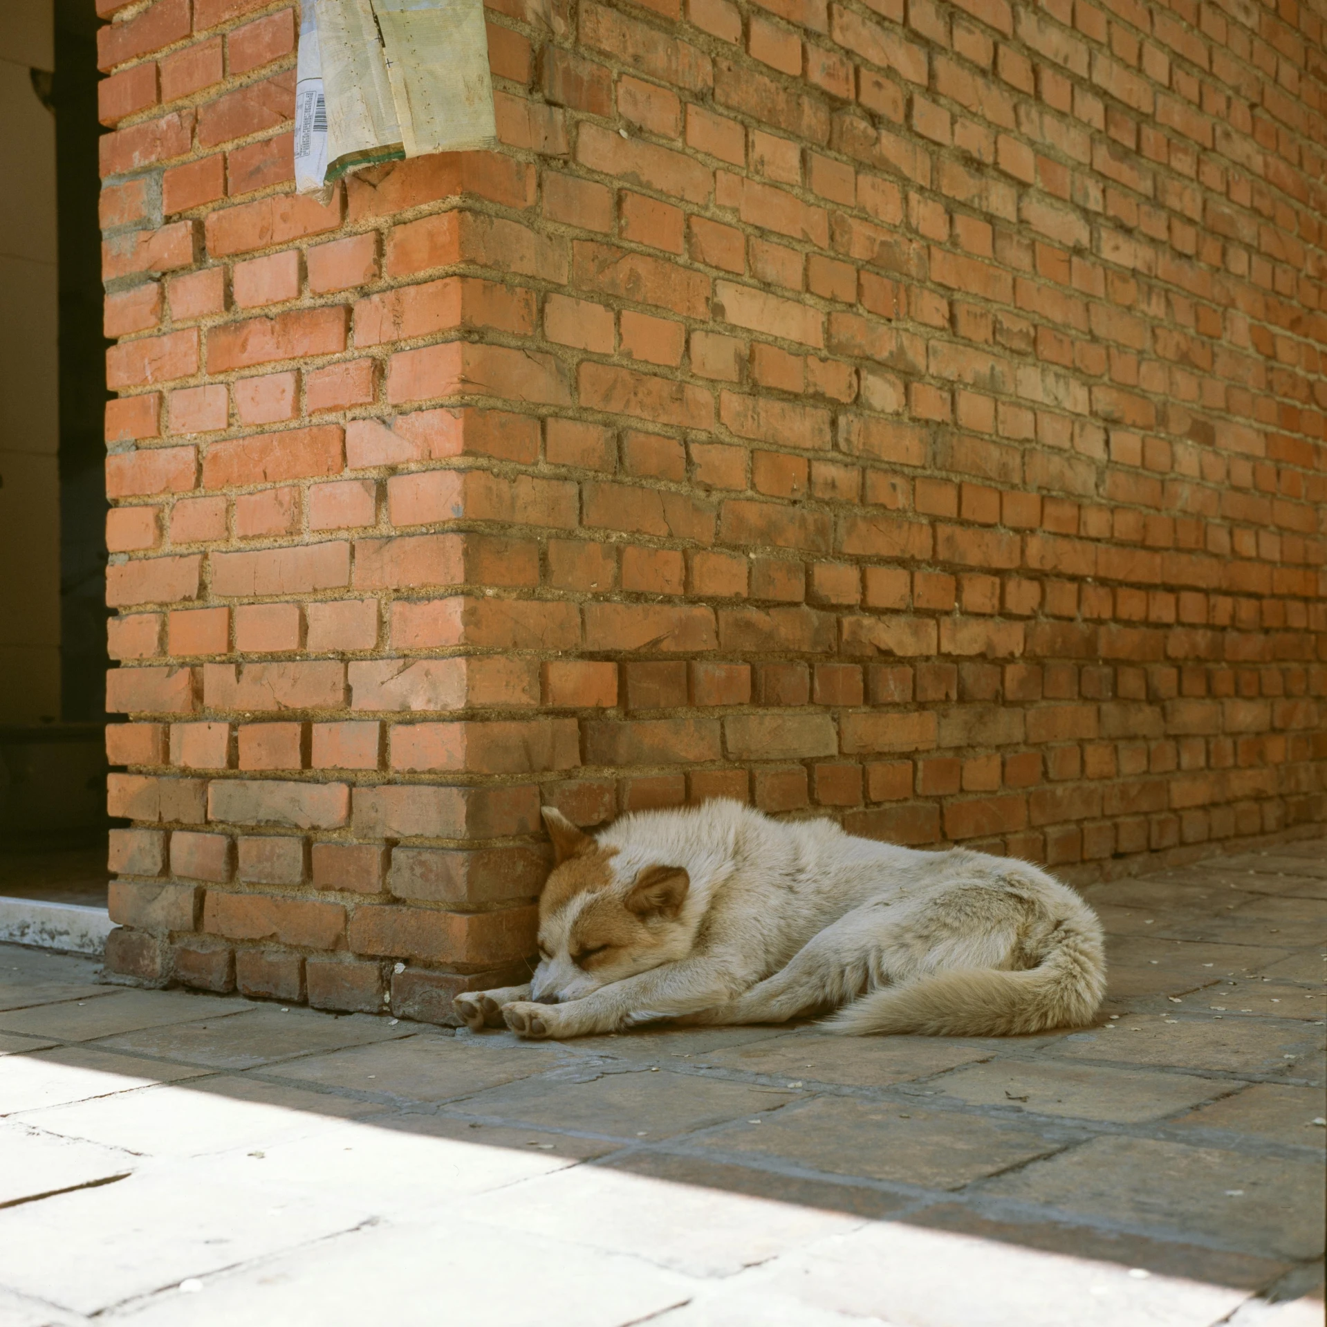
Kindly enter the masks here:
<path id="1" fill-rule="evenodd" d="M 1002 1036 L 1087 1023 L 1101 926 L 1026 861 L 917 852 L 738 802 L 624 816 L 591 837 L 544 811 L 556 864 L 528 986 L 458 995 L 471 1028 L 584 1036 L 656 1019 Z"/>

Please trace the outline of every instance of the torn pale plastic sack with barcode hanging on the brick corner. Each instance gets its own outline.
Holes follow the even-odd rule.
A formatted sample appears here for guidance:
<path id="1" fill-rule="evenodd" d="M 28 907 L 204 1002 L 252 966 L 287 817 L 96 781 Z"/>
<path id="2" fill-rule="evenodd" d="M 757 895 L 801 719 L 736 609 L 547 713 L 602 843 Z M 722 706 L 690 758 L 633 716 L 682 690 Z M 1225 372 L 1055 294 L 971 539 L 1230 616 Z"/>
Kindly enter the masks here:
<path id="1" fill-rule="evenodd" d="M 301 194 L 362 166 L 498 145 L 483 0 L 307 0 L 305 15 L 295 125 Z M 314 84 L 325 104 L 321 175 L 317 98 L 304 94 Z"/>

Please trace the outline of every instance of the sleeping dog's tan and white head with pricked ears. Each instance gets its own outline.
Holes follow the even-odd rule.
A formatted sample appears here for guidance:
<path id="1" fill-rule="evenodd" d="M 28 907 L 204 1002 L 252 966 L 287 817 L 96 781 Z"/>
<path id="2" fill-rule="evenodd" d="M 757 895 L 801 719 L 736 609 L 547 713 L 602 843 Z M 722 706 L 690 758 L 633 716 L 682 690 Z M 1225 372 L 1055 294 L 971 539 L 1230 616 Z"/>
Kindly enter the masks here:
<path id="1" fill-rule="evenodd" d="M 531 998 L 579 999 L 609 982 L 686 955 L 693 926 L 683 920 L 691 881 L 660 863 L 625 878 L 616 848 L 601 848 L 560 811 L 544 808 L 553 869 L 539 898 L 539 967 Z"/>

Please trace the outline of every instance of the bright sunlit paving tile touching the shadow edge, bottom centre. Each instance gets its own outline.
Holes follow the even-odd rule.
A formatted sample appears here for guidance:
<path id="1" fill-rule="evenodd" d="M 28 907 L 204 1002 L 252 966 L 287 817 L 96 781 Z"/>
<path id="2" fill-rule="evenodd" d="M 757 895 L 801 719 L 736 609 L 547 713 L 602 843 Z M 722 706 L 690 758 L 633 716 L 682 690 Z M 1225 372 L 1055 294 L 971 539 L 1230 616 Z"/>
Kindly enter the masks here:
<path id="1" fill-rule="evenodd" d="M 693 1277 L 730 1277 L 860 1220 L 601 1166 L 510 1185 L 466 1204 L 466 1220 L 633 1254 Z"/>

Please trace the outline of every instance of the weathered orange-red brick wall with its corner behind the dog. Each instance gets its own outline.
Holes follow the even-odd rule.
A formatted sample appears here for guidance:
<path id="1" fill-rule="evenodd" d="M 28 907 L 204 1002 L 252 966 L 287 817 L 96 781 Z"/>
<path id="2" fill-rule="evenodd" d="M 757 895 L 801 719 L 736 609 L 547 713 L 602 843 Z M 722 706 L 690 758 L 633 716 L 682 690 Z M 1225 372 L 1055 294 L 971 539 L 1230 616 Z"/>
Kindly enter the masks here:
<path id="1" fill-rule="evenodd" d="M 494 0 L 504 149 L 326 204 L 288 5 L 98 8 L 111 967 L 442 1016 L 541 800 L 1322 820 L 1308 7 Z"/>

